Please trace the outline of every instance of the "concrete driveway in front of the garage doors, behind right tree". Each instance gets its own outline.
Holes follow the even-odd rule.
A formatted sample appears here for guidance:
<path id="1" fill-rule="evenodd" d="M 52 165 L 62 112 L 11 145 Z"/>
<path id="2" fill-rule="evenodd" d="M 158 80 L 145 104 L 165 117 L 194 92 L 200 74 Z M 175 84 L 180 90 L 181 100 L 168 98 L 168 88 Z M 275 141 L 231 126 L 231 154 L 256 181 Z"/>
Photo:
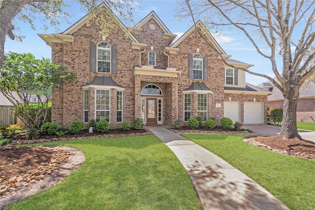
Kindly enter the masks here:
<path id="1" fill-rule="evenodd" d="M 270 124 L 244 124 L 243 128 L 265 136 L 277 136 L 281 130 L 281 126 Z M 298 129 L 298 132 L 303 139 L 315 142 L 315 131 Z"/>

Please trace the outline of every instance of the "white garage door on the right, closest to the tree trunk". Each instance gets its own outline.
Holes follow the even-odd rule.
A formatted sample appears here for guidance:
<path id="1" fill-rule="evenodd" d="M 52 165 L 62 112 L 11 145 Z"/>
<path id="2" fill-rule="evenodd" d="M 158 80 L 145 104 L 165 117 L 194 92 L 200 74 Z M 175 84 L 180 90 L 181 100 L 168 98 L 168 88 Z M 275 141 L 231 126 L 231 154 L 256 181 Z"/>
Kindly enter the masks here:
<path id="1" fill-rule="evenodd" d="M 263 102 L 244 102 L 244 124 L 261 124 L 263 120 Z"/>

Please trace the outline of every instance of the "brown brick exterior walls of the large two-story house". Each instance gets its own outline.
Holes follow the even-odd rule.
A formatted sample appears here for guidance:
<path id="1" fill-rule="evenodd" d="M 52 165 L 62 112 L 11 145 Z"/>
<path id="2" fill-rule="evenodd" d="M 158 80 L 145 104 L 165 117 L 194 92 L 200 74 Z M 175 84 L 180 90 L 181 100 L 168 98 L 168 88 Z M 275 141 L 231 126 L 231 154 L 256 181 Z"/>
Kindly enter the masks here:
<path id="1" fill-rule="evenodd" d="M 99 27 L 91 22 L 91 25 L 82 26 L 73 33 L 73 42 L 52 43 L 52 60 L 54 63 L 67 67 L 67 71 L 76 74 L 77 79 L 70 84 L 65 84 L 62 90 L 54 90 L 52 96 L 52 121 L 60 127 L 67 128 L 74 120 L 83 121 L 83 89 L 82 86 L 93 81 L 95 76 L 110 76 L 119 85 L 125 88 L 123 91 L 123 121 L 132 123 L 135 118 L 141 118 L 141 98 L 149 97 L 141 95 L 141 90 L 148 84 L 154 84 L 162 91 L 162 121 L 165 125 L 172 125 L 175 120 L 185 124 L 184 120 L 184 93 L 192 82 L 203 82 L 213 91 L 208 93 L 208 118 L 214 117 L 217 124 L 223 118 L 223 104 L 226 98 L 238 98 L 243 104 L 244 101 L 263 101 L 266 106 L 266 95 L 241 95 L 224 94 L 224 64 L 218 58 L 218 54 L 199 37 L 197 32 L 189 34 L 178 46 L 176 54 L 169 55 L 169 67 L 181 71 L 180 77 L 134 75 L 134 66 L 139 66 L 139 50 L 131 48 L 131 40 L 126 38 L 121 28 L 113 30 L 106 36 L 106 42 L 111 46 L 117 44 L 117 74 L 90 72 L 90 41 L 95 45 L 102 41 L 99 35 Z M 150 24 L 156 26 L 155 30 L 150 29 Z M 135 34 L 141 43 L 147 44 L 146 51 L 141 54 L 141 65 L 148 65 L 148 53 L 151 46 L 156 52 L 156 67 L 166 69 L 167 57 L 163 55 L 163 49 L 168 47 L 168 39 L 164 38 L 164 31 L 154 19 L 141 26 L 141 34 Z M 188 54 L 197 52 L 204 57 L 208 56 L 208 80 L 188 79 Z M 167 70 L 165 70 L 167 71 Z M 106 88 L 106 87 L 103 87 Z M 95 87 L 89 90 L 89 120 L 95 118 Z M 197 116 L 197 93 L 191 93 L 192 112 L 191 117 Z M 152 97 L 152 95 L 150 95 Z M 159 97 L 159 96 L 158 96 Z M 117 89 L 110 89 L 110 128 L 121 127 L 117 122 Z M 221 104 L 217 107 L 216 104 Z M 242 112 L 242 120 L 243 112 Z M 265 116 L 266 121 L 266 116 Z M 87 128 L 87 124 L 86 124 Z"/>

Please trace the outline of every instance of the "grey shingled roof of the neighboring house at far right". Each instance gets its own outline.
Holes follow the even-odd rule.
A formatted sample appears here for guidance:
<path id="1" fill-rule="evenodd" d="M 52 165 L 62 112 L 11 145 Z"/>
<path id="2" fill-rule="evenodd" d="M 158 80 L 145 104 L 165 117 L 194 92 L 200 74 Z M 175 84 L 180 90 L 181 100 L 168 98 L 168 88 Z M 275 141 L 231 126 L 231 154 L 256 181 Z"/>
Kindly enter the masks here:
<path id="1" fill-rule="evenodd" d="M 273 92 L 274 94 L 268 96 L 268 101 L 284 99 L 284 95 L 282 94 L 281 90 L 279 90 L 277 87 L 274 87 L 274 85 Z M 311 82 L 308 87 L 301 87 L 299 93 L 299 98 L 315 97 L 315 83 Z"/>

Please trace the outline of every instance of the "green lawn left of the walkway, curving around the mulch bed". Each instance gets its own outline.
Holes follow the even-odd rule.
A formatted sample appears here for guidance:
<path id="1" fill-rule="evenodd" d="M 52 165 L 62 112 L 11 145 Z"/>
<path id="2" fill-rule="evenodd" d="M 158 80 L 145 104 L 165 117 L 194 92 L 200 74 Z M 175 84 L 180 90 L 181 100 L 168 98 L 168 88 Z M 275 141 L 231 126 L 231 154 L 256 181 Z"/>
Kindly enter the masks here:
<path id="1" fill-rule="evenodd" d="M 8 210 L 200 210 L 189 175 L 156 136 L 46 143 L 82 150 L 86 161 L 60 184 Z"/>

